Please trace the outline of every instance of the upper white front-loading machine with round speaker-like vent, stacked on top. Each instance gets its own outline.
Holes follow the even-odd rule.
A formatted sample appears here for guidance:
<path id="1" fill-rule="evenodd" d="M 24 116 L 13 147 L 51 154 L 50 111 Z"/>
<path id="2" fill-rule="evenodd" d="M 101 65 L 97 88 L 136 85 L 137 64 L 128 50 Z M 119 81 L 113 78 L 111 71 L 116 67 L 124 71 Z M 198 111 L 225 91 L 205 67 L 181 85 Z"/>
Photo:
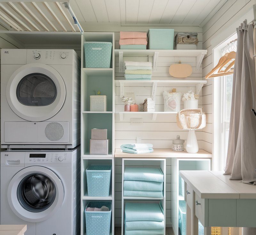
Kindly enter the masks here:
<path id="1" fill-rule="evenodd" d="M 2 148 L 80 144 L 79 66 L 74 50 L 1 50 Z"/>

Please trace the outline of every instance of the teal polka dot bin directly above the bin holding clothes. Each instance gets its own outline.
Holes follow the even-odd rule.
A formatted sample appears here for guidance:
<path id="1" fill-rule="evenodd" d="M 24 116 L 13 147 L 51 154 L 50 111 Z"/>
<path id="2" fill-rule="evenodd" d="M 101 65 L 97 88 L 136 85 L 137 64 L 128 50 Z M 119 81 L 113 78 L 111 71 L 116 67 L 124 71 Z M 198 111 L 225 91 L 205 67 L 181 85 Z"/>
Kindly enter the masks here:
<path id="1" fill-rule="evenodd" d="M 86 169 L 89 197 L 109 196 L 111 170 L 110 165 L 91 165 Z"/>

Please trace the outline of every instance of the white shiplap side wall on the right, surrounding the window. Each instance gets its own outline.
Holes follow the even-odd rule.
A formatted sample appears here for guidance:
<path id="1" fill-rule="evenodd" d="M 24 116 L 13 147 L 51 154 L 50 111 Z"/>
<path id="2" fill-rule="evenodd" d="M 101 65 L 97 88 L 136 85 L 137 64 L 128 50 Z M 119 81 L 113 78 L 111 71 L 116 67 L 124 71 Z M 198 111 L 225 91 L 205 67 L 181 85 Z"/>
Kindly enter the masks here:
<path id="1" fill-rule="evenodd" d="M 212 45 L 211 40 L 218 37 L 223 30 L 235 20 L 243 17 L 246 11 L 256 4 L 255 0 L 228 0 L 220 10 L 203 27 L 203 49 L 207 49 L 207 55 L 203 60 L 203 77 L 212 70 Z M 238 27 L 239 25 L 237 25 Z M 231 36 L 231 35 L 230 35 Z M 213 78 L 214 79 L 214 78 Z M 207 79 L 203 87 L 203 108 L 207 113 L 207 125 L 203 129 L 202 148 L 210 153 L 213 149 L 213 85 L 212 80 Z"/>

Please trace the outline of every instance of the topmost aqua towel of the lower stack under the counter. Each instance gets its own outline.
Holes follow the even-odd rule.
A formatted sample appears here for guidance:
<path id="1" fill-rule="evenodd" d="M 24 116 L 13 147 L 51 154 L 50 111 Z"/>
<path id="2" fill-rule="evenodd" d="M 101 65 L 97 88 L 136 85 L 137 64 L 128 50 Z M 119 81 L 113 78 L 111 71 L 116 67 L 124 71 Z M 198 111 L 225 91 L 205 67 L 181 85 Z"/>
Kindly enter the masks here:
<path id="1" fill-rule="evenodd" d="M 160 203 L 126 202 L 124 215 L 125 221 L 164 221 Z"/>

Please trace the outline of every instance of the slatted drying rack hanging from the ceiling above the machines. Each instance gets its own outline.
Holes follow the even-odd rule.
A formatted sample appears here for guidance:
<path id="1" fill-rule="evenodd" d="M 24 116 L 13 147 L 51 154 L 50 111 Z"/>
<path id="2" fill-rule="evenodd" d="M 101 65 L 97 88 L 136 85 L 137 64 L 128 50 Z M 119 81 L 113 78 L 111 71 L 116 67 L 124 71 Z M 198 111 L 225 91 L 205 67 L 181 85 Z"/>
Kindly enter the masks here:
<path id="1" fill-rule="evenodd" d="M 10 31 L 83 32 L 69 1 L 1 1 L 0 21 Z"/>

